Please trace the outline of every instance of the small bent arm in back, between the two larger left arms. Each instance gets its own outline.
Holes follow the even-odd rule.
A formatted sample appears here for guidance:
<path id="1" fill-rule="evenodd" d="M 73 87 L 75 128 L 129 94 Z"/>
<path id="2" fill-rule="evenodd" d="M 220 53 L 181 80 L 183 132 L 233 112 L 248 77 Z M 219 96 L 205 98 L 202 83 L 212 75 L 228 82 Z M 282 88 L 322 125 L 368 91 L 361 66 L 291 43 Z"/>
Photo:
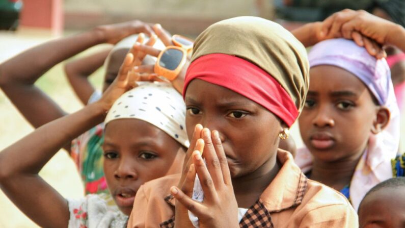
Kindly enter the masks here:
<path id="1" fill-rule="evenodd" d="M 87 105 L 90 96 L 95 91 L 88 78 L 104 64 L 111 49 L 112 47 L 65 64 L 65 74 L 83 105 Z"/>

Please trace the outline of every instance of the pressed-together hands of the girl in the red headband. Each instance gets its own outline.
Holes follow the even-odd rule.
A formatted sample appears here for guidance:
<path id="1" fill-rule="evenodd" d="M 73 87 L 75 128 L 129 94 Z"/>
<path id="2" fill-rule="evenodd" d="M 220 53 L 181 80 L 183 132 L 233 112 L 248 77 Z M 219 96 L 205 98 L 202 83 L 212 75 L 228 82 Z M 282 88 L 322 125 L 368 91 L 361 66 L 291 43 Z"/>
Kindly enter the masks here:
<path id="1" fill-rule="evenodd" d="M 176 198 L 175 227 L 183 226 L 184 215 L 177 215 L 178 208 L 186 208 L 199 219 L 200 227 L 239 227 L 238 206 L 233 192 L 231 174 L 222 147 L 218 131 L 203 129 L 203 156 L 199 151 L 193 151 L 193 165 L 188 169 L 182 186 L 171 188 Z M 205 158 L 206 164 L 203 161 Z M 204 200 L 198 202 L 191 198 L 195 176 L 198 174 Z"/>

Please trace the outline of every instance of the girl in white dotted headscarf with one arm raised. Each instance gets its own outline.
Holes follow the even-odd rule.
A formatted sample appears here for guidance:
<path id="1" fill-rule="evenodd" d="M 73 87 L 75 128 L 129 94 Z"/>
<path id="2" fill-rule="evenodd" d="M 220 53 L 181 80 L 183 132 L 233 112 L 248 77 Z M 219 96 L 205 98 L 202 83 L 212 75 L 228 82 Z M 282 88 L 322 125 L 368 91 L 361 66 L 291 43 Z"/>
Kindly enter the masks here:
<path id="1" fill-rule="evenodd" d="M 188 146 L 185 107 L 170 84 L 140 83 L 113 105 L 130 88 L 127 72 L 133 59 L 127 55 L 116 81 L 100 100 L 41 126 L 0 153 L 2 190 L 41 227 L 124 227 L 138 188 L 181 170 Z M 94 194 L 66 200 L 38 175 L 66 142 L 103 121 L 111 106 L 104 121 L 103 168 L 119 210 Z"/>

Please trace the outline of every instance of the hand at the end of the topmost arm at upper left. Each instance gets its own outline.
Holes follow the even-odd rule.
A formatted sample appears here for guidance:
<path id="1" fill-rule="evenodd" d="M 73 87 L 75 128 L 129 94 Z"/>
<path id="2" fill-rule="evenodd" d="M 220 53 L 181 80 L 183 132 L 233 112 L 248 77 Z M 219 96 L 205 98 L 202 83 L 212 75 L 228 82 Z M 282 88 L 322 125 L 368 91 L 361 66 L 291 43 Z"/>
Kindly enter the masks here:
<path id="1" fill-rule="evenodd" d="M 102 42 L 111 44 L 116 44 L 118 41 L 132 34 L 145 33 L 149 36 L 153 34 L 153 30 L 149 24 L 140 20 L 106 24 L 97 27 L 96 31 L 99 32 Z"/>

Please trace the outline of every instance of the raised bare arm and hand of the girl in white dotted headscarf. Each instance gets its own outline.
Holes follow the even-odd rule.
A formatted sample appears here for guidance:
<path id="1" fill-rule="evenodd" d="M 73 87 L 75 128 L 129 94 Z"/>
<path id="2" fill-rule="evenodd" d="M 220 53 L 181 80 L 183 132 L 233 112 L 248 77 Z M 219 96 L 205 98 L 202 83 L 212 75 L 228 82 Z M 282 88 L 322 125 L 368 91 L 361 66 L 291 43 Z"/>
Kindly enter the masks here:
<path id="1" fill-rule="evenodd" d="M 66 141 L 102 122 L 115 100 L 131 88 L 127 72 L 133 59 L 132 54 L 127 55 L 117 79 L 99 101 L 41 126 L 0 152 L 1 189 L 41 227 L 67 227 L 69 208 L 66 199 L 38 172 Z"/>

